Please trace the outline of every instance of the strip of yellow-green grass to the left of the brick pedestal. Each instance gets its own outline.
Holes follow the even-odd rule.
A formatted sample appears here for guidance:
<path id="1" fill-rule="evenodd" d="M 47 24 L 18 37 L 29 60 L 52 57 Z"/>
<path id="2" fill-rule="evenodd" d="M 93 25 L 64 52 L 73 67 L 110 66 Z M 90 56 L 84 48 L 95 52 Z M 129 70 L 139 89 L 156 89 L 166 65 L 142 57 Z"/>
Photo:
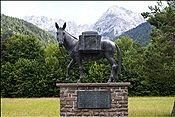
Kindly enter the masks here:
<path id="1" fill-rule="evenodd" d="M 59 117 L 59 98 L 1 98 L 1 117 Z"/>

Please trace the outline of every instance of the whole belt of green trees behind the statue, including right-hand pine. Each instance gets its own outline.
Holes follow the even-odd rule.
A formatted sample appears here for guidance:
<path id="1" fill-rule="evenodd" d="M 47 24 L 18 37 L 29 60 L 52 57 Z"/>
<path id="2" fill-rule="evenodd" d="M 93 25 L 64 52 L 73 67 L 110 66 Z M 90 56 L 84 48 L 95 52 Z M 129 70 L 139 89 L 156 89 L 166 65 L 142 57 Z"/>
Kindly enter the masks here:
<path id="1" fill-rule="evenodd" d="M 175 2 L 167 3 L 164 7 L 158 2 L 155 7 L 149 7 L 150 12 L 142 13 L 152 25 L 146 47 L 128 36 L 115 41 L 122 54 L 118 82 L 131 82 L 129 96 L 175 95 Z M 8 35 L 2 31 L 1 37 L 3 33 Z M 7 36 L 1 40 L 1 97 L 59 97 L 55 84 L 65 82 L 70 60 L 69 56 L 62 56 L 56 42 L 44 46 L 36 35 Z M 84 83 L 101 83 L 108 81 L 111 68 L 102 59 L 84 62 L 83 69 Z M 79 69 L 75 65 L 70 71 L 70 82 L 78 79 Z"/>

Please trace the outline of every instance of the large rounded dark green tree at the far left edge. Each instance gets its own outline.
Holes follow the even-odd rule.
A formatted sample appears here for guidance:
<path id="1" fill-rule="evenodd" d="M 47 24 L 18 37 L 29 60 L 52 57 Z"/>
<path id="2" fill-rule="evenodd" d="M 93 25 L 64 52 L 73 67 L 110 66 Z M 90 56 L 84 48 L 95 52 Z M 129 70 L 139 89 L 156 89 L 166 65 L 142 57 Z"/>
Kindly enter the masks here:
<path id="1" fill-rule="evenodd" d="M 38 83 L 43 82 L 43 63 L 44 48 L 34 36 L 18 34 L 2 41 L 1 95 L 42 96 L 37 87 L 42 87 L 42 83 Z"/>

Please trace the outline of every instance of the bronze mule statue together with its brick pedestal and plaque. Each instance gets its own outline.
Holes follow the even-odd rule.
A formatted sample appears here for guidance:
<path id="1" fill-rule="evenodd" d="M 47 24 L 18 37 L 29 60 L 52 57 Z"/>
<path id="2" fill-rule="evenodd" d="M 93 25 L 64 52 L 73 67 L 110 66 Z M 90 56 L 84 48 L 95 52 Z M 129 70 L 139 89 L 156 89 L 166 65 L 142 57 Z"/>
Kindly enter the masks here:
<path id="1" fill-rule="evenodd" d="M 117 44 L 110 40 L 101 40 L 95 31 L 82 32 L 79 39 L 65 31 L 66 23 L 57 29 L 59 45 L 64 45 L 72 60 L 66 69 L 66 82 L 56 83 L 60 87 L 60 116 L 128 116 L 129 82 L 116 82 L 121 72 L 121 54 Z M 114 59 L 117 52 L 118 63 Z M 83 61 L 95 61 L 106 58 L 111 65 L 107 83 L 81 83 L 83 78 Z M 77 83 L 68 83 L 72 65 L 78 63 L 80 78 Z"/>

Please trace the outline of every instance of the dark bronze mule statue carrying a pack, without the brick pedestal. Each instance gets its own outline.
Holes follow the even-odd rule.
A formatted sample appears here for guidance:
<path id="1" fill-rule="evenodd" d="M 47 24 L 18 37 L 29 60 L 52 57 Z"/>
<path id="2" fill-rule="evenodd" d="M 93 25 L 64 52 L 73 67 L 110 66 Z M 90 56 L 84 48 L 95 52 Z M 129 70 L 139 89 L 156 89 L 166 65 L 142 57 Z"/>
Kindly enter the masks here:
<path id="1" fill-rule="evenodd" d="M 95 61 L 101 58 L 106 58 L 111 65 L 111 74 L 108 82 L 115 82 L 118 79 L 118 75 L 121 71 L 121 54 L 117 44 L 110 40 L 101 40 L 101 36 L 97 32 L 87 31 L 80 35 L 78 40 L 71 34 L 65 31 L 66 23 L 63 27 L 59 27 L 55 23 L 57 29 L 57 40 L 59 45 L 64 45 L 68 54 L 72 60 L 67 66 L 66 81 L 68 82 L 68 76 L 70 68 L 77 62 L 80 71 L 80 79 L 77 83 L 81 83 L 83 79 L 82 61 Z M 118 64 L 114 59 L 114 54 L 118 54 Z"/>

